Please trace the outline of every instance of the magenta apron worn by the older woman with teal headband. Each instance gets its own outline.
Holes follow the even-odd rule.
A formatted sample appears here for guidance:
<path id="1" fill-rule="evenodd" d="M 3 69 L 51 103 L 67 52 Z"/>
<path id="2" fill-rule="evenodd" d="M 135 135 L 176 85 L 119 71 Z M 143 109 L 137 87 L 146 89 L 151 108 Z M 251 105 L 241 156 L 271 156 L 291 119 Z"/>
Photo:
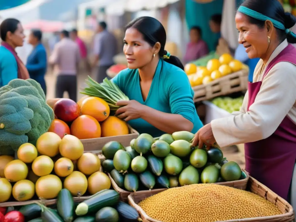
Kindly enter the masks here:
<path id="1" fill-rule="evenodd" d="M 270 62 L 263 74 L 262 81 L 268 75 L 269 70 L 278 62 L 291 62 L 296 65 L 295 47 L 289 44 Z M 248 111 L 255 101 L 262 81 L 249 83 L 248 85 Z M 250 175 L 280 197 L 288 200 L 289 187 L 296 160 L 295 123 L 286 116 L 271 136 L 256 142 L 246 143 L 244 150 L 246 170 Z"/>

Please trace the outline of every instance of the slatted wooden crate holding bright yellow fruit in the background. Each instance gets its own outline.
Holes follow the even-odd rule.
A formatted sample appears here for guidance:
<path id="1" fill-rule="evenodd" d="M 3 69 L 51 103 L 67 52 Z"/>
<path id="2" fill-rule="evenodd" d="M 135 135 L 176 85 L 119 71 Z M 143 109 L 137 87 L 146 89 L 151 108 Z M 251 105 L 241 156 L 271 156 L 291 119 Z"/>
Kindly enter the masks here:
<path id="1" fill-rule="evenodd" d="M 213 99 L 217 96 L 225 96 L 234 92 L 248 89 L 249 68 L 223 76 L 206 85 L 192 87 L 194 91 L 193 101 L 200 102 Z"/>

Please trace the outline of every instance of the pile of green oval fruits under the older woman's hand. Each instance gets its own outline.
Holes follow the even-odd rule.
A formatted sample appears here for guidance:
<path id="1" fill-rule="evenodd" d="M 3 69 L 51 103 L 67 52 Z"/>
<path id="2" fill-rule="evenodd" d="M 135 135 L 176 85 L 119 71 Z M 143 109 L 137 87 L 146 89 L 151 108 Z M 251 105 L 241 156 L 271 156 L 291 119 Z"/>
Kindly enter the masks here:
<path id="1" fill-rule="evenodd" d="M 190 141 L 194 134 L 181 131 L 164 134 L 156 141 L 143 133 L 124 148 L 118 142 L 107 143 L 102 153 L 103 169 L 115 183 L 129 192 L 170 188 L 198 183 L 239 180 L 242 170 L 223 158 L 220 149 L 197 149 Z"/>

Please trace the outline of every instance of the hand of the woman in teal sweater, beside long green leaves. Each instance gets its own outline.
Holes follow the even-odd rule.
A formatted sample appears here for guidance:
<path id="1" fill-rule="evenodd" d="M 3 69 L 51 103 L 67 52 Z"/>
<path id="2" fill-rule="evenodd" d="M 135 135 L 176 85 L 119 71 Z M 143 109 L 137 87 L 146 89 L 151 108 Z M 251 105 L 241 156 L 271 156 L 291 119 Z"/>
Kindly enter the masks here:
<path id="1" fill-rule="evenodd" d="M 143 112 L 145 105 L 137 102 L 136 100 L 120 100 L 116 103 L 120 107 L 116 112 L 118 118 L 124 119 L 125 121 L 134 120 L 141 118 L 141 113 Z"/>

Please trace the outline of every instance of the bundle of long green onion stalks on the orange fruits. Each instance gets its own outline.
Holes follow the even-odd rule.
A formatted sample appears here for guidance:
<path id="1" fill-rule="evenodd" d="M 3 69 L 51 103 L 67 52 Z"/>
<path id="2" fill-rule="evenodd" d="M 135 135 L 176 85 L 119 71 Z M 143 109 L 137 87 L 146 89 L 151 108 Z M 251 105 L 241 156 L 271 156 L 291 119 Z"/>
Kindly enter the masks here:
<path id="1" fill-rule="evenodd" d="M 88 79 L 86 79 L 86 85 L 88 87 L 82 89 L 80 93 L 104 99 L 108 103 L 111 111 L 116 111 L 120 108 L 120 106 L 115 105 L 119 100 L 129 100 L 118 86 L 107 78 L 105 78 L 102 83 L 98 83 L 91 77 L 88 77 Z"/>

